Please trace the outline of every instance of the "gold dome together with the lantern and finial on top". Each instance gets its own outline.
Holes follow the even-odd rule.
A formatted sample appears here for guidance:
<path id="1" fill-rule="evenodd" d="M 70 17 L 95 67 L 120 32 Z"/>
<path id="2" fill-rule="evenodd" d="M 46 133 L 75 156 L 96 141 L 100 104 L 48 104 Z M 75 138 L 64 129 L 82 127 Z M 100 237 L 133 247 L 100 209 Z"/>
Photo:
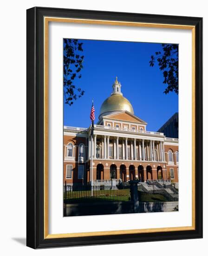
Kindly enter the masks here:
<path id="1" fill-rule="evenodd" d="M 110 97 L 108 97 L 101 105 L 99 120 L 104 115 L 116 114 L 124 110 L 134 114 L 130 101 L 123 97 L 123 94 L 121 93 L 121 83 L 117 81 L 117 77 L 112 87 L 113 92 L 111 93 Z"/>

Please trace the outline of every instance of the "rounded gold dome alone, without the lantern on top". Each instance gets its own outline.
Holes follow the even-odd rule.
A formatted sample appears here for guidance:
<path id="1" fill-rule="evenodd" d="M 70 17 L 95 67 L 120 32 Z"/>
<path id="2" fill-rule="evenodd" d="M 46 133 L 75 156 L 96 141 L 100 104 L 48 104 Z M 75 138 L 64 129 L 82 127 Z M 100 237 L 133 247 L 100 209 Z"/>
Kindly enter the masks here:
<path id="1" fill-rule="evenodd" d="M 134 114 L 134 110 L 128 101 L 122 94 L 112 94 L 102 104 L 100 108 L 100 117 L 103 115 L 109 115 L 109 112 L 127 110 Z M 106 113 L 106 114 L 104 114 Z"/>

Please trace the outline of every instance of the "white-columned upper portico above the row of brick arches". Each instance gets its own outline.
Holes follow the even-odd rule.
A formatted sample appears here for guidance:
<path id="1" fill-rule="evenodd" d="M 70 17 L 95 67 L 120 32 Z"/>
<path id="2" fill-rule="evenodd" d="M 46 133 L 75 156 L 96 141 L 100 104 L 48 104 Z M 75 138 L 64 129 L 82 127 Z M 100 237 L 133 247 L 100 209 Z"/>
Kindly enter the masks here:
<path id="1" fill-rule="evenodd" d="M 103 132 L 104 130 L 104 132 Z M 98 127 L 95 125 L 93 137 L 93 159 L 102 160 L 126 160 L 126 161 L 142 161 L 142 162 L 164 162 L 164 136 L 155 133 L 151 138 L 151 133 L 146 135 L 134 132 L 134 135 L 125 133 L 115 134 L 108 127 Z M 105 135 L 104 133 L 108 134 Z M 112 134 L 112 135 L 110 135 Z M 128 136 L 128 137 L 127 137 Z M 88 148 L 91 148 L 91 137 L 88 136 Z M 88 160 L 91 159 L 91 150 L 88 150 Z"/>

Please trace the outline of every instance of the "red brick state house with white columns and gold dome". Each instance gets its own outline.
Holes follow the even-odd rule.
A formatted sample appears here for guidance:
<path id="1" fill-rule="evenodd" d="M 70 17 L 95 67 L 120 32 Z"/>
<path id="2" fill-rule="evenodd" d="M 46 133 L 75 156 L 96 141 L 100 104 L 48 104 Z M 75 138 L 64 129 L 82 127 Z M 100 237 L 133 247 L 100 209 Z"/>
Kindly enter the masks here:
<path id="1" fill-rule="evenodd" d="M 123 182 L 135 178 L 178 182 L 178 139 L 148 131 L 146 126 L 134 115 L 116 79 L 101 106 L 92 143 L 91 127 L 64 126 L 64 183 L 91 182 L 91 169 L 94 185 L 108 182 L 113 172 Z"/>

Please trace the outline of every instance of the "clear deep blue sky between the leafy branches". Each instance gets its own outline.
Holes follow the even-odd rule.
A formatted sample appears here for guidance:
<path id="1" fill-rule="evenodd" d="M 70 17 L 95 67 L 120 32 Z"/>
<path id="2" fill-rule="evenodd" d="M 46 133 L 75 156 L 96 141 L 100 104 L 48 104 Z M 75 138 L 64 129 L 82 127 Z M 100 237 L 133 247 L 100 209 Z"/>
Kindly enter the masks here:
<path id="1" fill-rule="evenodd" d="M 89 127 L 91 99 L 94 99 L 96 122 L 103 101 L 110 96 L 116 76 L 123 96 L 134 114 L 148 123 L 147 130 L 158 130 L 178 112 L 178 95 L 164 94 L 163 73 L 150 67 L 150 56 L 162 50 L 158 43 L 79 40 L 83 42 L 84 68 L 75 85 L 84 95 L 69 106 L 64 103 L 64 125 Z M 96 123 L 95 122 L 95 123 Z"/>

